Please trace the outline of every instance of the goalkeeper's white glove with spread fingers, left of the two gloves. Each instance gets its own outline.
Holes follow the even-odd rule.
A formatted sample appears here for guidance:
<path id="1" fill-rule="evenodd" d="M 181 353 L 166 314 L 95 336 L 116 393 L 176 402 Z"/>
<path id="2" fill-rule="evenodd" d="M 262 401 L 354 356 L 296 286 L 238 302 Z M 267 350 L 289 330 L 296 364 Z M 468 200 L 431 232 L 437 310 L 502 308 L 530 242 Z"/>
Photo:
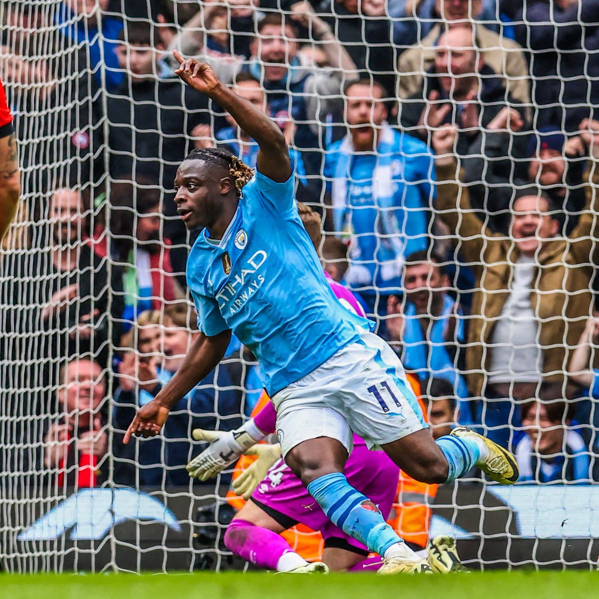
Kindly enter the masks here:
<path id="1" fill-rule="evenodd" d="M 248 420 L 234 431 L 205 431 L 195 428 L 192 432 L 196 441 L 208 441 L 210 445 L 187 464 L 189 476 L 207 480 L 237 461 L 247 449 L 264 438 L 264 433 Z"/>

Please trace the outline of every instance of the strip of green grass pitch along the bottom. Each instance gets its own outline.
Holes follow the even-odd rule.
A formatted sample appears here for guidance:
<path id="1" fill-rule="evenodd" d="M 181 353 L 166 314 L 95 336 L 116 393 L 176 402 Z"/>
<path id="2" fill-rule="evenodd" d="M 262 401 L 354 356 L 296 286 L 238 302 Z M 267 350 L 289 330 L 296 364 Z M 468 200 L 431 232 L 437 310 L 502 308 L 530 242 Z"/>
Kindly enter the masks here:
<path id="1" fill-rule="evenodd" d="M 586 599 L 599 572 L 505 572 L 452 576 L 223 574 L 0 574 L 7 599 Z"/>

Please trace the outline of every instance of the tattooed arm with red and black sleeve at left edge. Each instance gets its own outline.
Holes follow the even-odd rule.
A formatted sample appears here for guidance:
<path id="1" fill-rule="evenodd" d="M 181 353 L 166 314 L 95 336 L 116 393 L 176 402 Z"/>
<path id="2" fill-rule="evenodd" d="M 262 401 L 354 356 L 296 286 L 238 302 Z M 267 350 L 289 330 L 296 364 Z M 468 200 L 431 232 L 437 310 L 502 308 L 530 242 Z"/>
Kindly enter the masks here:
<path id="1" fill-rule="evenodd" d="M 19 205 L 21 183 L 13 115 L 0 81 L 0 240 L 14 218 Z"/>

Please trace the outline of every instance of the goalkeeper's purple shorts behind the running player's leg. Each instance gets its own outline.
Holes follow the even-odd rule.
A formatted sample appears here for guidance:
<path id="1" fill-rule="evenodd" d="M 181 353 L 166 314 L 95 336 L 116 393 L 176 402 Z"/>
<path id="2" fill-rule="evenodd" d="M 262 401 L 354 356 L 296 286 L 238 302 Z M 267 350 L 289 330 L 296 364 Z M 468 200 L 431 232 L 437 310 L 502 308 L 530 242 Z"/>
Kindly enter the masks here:
<path id="1" fill-rule="evenodd" d="M 400 469 L 382 451 L 369 451 L 362 439 L 353 435 L 353 451 L 345 465 L 347 482 L 379 506 L 387 519 L 397 497 Z M 338 547 L 368 555 L 368 549 L 337 528 L 306 491 L 301 480 L 283 459 L 273 464 L 252 494 L 253 503 L 285 528 L 304 524 L 320 531 L 325 547 Z"/>

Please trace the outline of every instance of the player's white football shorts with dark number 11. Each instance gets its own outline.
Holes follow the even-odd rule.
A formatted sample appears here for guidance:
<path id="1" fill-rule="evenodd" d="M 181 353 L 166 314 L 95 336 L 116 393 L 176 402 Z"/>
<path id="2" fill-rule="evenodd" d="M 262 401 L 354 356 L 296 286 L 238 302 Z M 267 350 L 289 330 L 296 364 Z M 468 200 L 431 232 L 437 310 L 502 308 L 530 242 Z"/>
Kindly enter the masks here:
<path id="1" fill-rule="evenodd" d="M 271 400 L 283 456 L 317 437 L 334 438 L 349 453 L 352 432 L 373 449 L 428 428 L 400 359 L 370 332 Z"/>

